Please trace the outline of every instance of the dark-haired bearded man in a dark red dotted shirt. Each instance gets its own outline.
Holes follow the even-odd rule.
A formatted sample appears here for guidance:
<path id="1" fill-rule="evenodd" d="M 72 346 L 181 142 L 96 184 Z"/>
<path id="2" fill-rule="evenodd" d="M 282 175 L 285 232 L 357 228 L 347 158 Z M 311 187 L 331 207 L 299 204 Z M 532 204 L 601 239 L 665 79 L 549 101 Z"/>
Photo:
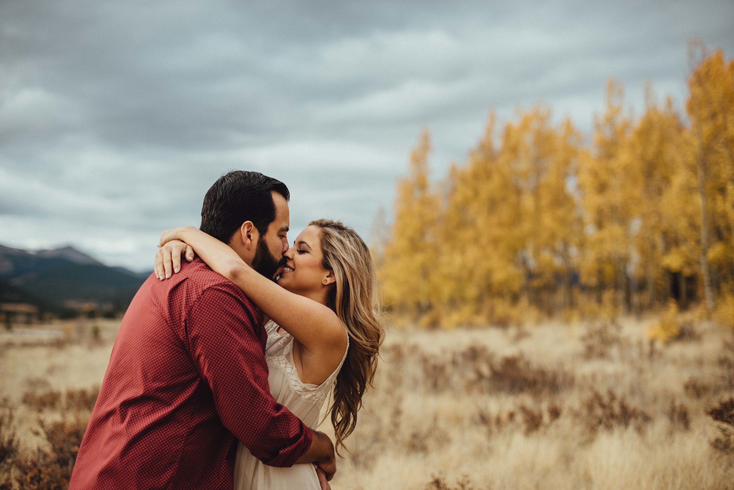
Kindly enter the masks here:
<path id="1" fill-rule="evenodd" d="M 229 172 L 204 198 L 201 230 L 273 277 L 288 198 L 278 180 Z M 265 342 L 261 313 L 201 260 L 151 274 L 117 333 L 70 490 L 232 489 L 238 439 L 265 464 L 313 462 L 330 479 L 328 436 L 270 395 Z"/>

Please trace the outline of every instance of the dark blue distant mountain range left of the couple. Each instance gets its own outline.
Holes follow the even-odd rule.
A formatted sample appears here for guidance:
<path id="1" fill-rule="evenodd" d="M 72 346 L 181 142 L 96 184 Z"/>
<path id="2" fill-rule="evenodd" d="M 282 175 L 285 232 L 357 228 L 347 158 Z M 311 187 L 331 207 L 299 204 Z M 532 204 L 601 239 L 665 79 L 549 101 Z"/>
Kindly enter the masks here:
<path id="1" fill-rule="evenodd" d="M 75 304 L 123 311 L 148 276 L 105 266 L 71 246 L 29 251 L 0 245 L 0 302 L 32 303 L 42 312 L 68 315 Z"/>

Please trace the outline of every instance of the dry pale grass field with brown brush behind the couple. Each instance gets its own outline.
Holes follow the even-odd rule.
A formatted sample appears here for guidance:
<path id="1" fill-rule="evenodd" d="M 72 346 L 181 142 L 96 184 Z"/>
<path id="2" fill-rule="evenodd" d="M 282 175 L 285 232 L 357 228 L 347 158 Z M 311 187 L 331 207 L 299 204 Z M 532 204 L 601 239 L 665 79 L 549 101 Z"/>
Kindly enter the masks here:
<path id="1" fill-rule="evenodd" d="M 734 489 L 734 332 L 691 322 L 659 345 L 650 322 L 389 329 L 333 488 Z M 0 461 L 17 447 L 13 478 L 46 489 L 68 475 L 117 323 L 35 328 L 0 336 Z"/>

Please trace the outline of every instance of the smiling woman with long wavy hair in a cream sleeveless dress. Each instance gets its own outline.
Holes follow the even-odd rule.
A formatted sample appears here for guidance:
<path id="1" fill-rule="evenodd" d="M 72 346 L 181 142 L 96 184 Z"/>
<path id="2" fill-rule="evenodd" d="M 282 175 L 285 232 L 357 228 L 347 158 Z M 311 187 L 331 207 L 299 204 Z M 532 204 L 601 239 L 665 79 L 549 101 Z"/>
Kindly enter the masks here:
<path id="1" fill-rule="evenodd" d="M 278 403 L 316 427 L 332 393 L 329 412 L 339 453 L 357 424 L 384 335 L 374 265 L 360 235 L 341 222 L 310 222 L 284 254 L 286 264 L 276 284 L 216 238 L 194 227 L 175 228 L 161 234 L 156 276 L 165 277 L 183 252 L 193 260 L 192 249 L 269 318 L 265 355 L 270 391 Z M 241 444 L 234 476 L 239 490 L 320 488 L 313 465 L 269 467 Z"/>

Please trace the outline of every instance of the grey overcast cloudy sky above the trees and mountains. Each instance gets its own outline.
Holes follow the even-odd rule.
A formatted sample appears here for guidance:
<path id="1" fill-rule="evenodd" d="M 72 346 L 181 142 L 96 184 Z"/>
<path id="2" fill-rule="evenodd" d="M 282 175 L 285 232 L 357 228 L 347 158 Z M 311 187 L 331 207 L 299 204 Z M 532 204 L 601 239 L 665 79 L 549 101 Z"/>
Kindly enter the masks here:
<path id="1" fill-rule="evenodd" d="M 368 235 L 422 126 L 440 177 L 490 108 L 681 106 L 691 36 L 733 57 L 734 1 L 1 0 L 0 244 L 150 269 L 229 169 L 289 186 L 291 240 Z"/>

